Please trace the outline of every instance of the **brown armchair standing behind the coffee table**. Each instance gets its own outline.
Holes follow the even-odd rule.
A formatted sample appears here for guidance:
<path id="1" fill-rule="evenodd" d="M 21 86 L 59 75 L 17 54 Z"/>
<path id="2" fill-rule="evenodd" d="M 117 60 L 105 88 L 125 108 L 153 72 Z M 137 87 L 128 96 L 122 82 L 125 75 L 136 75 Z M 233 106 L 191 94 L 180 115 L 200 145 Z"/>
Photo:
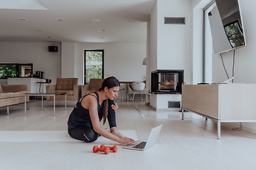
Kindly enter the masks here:
<path id="1" fill-rule="evenodd" d="M 47 85 L 46 93 L 65 92 L 67 100 L 76 101 L 81 98 L 82 86 L 78 85 L 78 78 L 57 78 L 56 85 Z M 47 96 L 47 100 L 53 100 L 53 96 Z M 65 95 L 55 96 L 55 100 L 65 100 Z"/>

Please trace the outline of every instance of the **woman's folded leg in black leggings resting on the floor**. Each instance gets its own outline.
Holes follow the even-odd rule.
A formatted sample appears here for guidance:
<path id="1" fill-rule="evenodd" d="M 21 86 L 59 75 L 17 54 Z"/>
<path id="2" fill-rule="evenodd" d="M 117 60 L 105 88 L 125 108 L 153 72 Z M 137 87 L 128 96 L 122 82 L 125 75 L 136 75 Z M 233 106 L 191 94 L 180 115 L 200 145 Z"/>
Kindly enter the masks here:
<path id="1" fill-rule="evenodd" d="M 82 140 L 85 142 L 94 142 L 100 136 L 93 130 L 93 128 L 89 128 L 85 125 L 68 130 L 68 134 L 76 140 Z"/>

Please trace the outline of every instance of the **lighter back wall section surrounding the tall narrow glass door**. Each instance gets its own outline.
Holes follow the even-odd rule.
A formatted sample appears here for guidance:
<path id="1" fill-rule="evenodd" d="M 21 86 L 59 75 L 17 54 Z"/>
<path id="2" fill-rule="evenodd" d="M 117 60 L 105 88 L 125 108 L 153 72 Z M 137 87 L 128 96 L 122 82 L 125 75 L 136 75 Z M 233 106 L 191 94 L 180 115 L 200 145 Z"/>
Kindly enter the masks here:
<path id="1" fill-rule="evenodd" d="M 104 50 L 104 77 L 114 76 L 119 81 L 144 81 L 146 77 L 146 66 L 142 65 L 146 57 L 146 43 L 62 44 L 62 77 L 72 74 L 73 77 L 78 77 L 78 84 L 84 82 L 84 50 Z"/>

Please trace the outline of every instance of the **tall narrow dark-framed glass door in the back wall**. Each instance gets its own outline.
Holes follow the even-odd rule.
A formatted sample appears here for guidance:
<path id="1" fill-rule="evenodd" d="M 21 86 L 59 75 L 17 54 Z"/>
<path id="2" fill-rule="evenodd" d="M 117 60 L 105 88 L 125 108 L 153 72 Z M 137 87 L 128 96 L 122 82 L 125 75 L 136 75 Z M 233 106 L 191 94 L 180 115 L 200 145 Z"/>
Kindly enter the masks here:
<path id="1" fill-rule="evenodd" d="M 85 79 L 84 84 L 89 84 L 90 79 L 103 79 L 104 77 L 104 50 L 85 50 Z"/>

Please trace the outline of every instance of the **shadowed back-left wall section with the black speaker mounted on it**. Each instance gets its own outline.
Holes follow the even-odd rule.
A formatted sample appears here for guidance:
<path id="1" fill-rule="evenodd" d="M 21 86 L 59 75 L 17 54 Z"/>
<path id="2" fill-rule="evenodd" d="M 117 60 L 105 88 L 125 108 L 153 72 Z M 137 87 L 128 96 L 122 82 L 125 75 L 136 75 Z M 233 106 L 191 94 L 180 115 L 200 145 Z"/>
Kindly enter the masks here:
<path id="1" fill-rule="evenodd" d="M 48 46 L 58 46 L 58 52 L 48 52 Z M 59 42 L 0 42 L 0 62 L 33 63 L 33 74 L 43 71 L 43 77 L 60 77 Z"/>

